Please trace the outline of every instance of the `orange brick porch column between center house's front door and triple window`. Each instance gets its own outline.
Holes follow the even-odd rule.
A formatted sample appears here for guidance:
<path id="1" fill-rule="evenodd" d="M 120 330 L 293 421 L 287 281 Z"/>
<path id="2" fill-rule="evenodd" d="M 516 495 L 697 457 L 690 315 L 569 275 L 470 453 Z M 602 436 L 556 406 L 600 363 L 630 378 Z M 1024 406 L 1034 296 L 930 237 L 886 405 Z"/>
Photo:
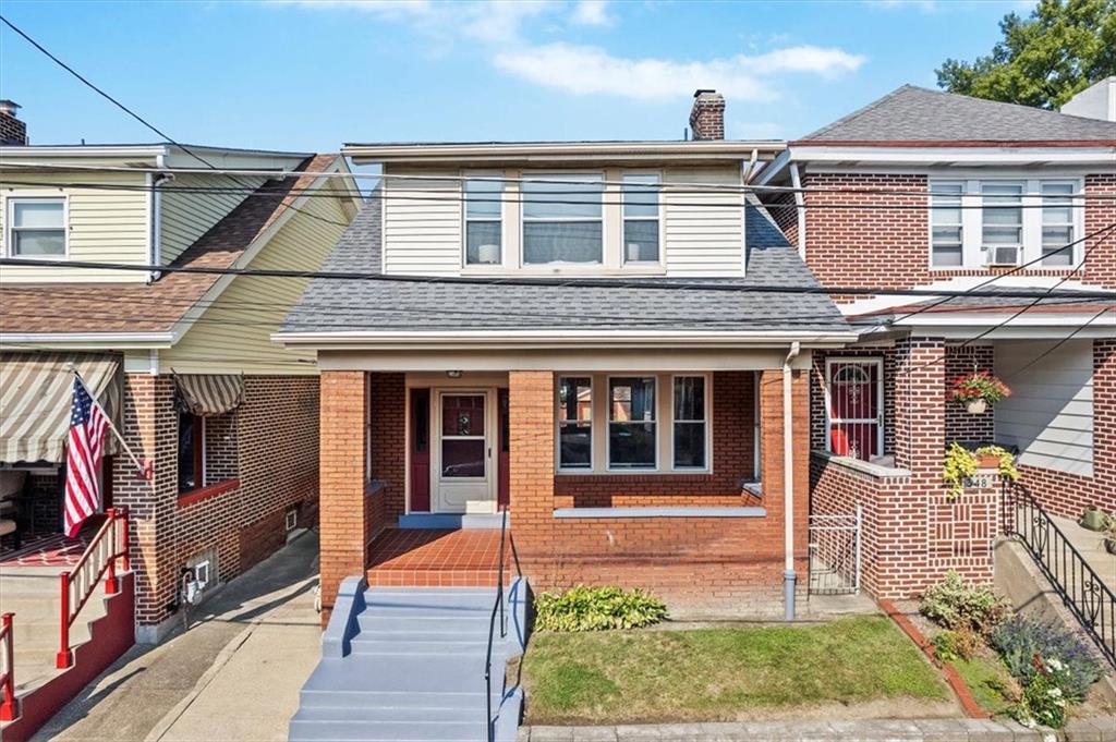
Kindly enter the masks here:
<path id="1" fill-rule="evenodd" d="M 520 555 L 554 548 L 555 377 L 509 372 L 510 517 Z"/>

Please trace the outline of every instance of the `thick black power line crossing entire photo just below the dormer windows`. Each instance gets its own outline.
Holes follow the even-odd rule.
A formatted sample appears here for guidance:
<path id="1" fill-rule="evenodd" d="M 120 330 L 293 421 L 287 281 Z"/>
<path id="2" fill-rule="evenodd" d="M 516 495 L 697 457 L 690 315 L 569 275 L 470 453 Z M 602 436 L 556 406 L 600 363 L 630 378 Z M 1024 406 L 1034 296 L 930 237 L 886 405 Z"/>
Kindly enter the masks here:
<path id="1" fill-rule="evenodd" d="M 1116 225 L 1114 225 L 1116 227 Z M 737 279 L 629 279 L 629 278 L 574 278 L 574 277 L 500 277 L 484 278 L 473 276 L 414 276 L 394 273 L 373 273 L 363 271 L 325 271 L 325 270 L 287 270 L 275 268 L 215 268 L 205 266 L 144 266 L 121 262 L 95 262 L 81 260 L 42 260 L 35 258 L 0 258 L 0 266 L 35 266 L 40 268 L 67 268 L 90 270 L 121 271 L 163 271 L 167 273 L 204 273 L 212 276 L 257 276 L 261 278 L 302 278 L 343 281 L 376 281 L 385 283 L 422 283 L 443 286 L 519 286 L 533 288 L 609 288 L 609 289 L 647 289 L 662 291 L 715 291 L 730 293 L 809 293 L 809 295 L 846 295 L 846 296 L 972 296 L 1000 297 L 1014 299 L 1066 298 L 1097 299 L 1100 301 L 1116 300 L 1116 291 L 1069 291 L 1057 296 L 1033 289 L 1000 289 L 997 291 L 947 290 L 947 289 L 886 289 L 881 287 L 825 287 L 825 286 L 770 286 L 752 285 Z"/>

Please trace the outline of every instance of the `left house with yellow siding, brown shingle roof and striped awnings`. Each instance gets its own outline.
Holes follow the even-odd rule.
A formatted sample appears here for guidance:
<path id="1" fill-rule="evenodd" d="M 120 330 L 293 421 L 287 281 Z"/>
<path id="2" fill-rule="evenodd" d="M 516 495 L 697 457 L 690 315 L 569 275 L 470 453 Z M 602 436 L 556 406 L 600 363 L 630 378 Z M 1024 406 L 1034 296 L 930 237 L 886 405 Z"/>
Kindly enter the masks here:
<path id="1" fill-rule="evenodd" d="M 172 173 L 199 170 L 194 155 L 299 175 Z M 4 395 L 0 461 L 27 482 L 20 529 L 60 530 L 66 418 L 26 415 L 52 414 L 29 405 L 59 388 L 68 411 L 73 363 L 152 464 L 144 480 L 127 456 L 106 460 L 103 504 L 129 509 L 137 638 L 157 640 L 183 567 L 208 562 L 212 587 L 316 522 L 317 367 L 269 337 L 307 281 L 67 262 L 314 270 L 359 199 L 327 176 L 347 172 L 337 154 L 16 144 L 0 156 L 3 257 L 61 263 L 0 267 L 0 374 L 22 385 Z M 213 383 L 228 394 L 208 394 Z"/>

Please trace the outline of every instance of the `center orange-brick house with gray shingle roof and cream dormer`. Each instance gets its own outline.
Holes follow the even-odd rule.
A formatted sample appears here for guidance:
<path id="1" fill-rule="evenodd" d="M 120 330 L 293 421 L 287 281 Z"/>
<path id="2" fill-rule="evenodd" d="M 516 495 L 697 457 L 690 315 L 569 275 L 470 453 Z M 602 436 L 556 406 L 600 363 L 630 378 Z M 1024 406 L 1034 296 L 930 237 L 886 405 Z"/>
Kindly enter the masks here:
<path id="1" fill-rule="evenodd" d="M 766 292 L 816 282 L 741 192 L 782 144 L 723 112 L 699 91 L 684 142 L 346 146 L 385 179 L 326 267 L 395 280 L 316 280 L 276 336 L 321 367 L 326 617 L 349 575 L 494 585 L 493 541 L 446 529 L 500 510 L 536 589 L 781 613 L 805 586 L 807 375 L 852 334 Z"/>

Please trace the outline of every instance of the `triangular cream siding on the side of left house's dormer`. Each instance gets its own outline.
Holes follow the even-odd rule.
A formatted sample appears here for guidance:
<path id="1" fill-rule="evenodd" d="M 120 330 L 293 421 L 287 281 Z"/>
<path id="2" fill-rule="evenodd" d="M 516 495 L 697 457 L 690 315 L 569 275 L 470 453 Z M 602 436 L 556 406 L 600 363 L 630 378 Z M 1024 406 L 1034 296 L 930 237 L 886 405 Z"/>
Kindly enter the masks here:
<path id="1" fill-rule="evenodd" d="M 247 189 L 257 189 L 262 177 L 247 175 L 208 175 L 183 173 L 160 189 L 162 211 L 162 264 L 172 262 L 214 224 L 248 197 Z M 186 189 L 235 189 L 228 192 L 198 193 Z M 243 189 L 243 190 L 242 190 Z"/>

